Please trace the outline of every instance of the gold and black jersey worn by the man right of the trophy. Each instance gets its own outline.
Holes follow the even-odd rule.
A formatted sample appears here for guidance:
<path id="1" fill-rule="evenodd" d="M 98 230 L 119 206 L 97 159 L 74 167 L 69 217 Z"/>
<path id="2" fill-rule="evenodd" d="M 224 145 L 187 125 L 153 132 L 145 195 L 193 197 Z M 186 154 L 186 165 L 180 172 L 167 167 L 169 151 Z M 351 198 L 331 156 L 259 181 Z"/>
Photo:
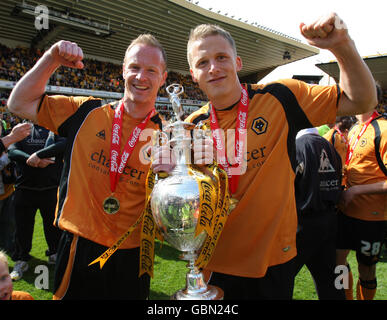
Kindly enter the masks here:
<path id="1" fill-rule="evenodd" d="M 231 212 L 207 268 L 226 274 L 262 277 L 269 266 L 296 255 L 294 198 L 295 137 L 303 128 L 333 123 L 340 88 L 296 80 L 248 85 L 247 170 L 239 178 Z M 234 130 L 238 108 L 216 111 L 219 125 Z M 209 121 L 209 105 L 185 121 Z M 231 136 L 231 135 L 230 135 Z M 227 149 L 234 141 L 226 142 Z"/>

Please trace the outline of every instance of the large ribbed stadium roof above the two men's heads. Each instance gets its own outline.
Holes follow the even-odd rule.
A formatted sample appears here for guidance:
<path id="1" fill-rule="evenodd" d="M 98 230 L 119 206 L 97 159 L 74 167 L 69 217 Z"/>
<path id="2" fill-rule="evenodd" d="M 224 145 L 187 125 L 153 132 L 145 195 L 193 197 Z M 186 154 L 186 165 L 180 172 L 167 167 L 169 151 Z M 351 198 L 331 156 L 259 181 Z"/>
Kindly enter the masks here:
<path id="1" fill-rule="evenodd" d="M 49 30 L 35 28 L 35 15 L 43 11 L 35 14 L 34 10 L 29 13 L 25 10 L 37 5 L 50 10 Z M 132 39 L 141 33 L 152 33 L 166 49 L 168 67 L 172 70 L 188 71 L 189 31 L 201 23 L 218 24 L 232 34 L 244 65 L 239 75 L 252 81 L 280 65 L 319 53 L 300 40 L 185 0 L 2 0 L 1 7 L 0 41 L 16 40 L 45 49 L 65 39 L 77 42 L 87 56 L 121 62 Z M 61 17 L 55 17 L 57 13 Z M 77 23 L 74 18 L 82 21 Z M 85 22 L 89 24 L 86 27 Z"/>

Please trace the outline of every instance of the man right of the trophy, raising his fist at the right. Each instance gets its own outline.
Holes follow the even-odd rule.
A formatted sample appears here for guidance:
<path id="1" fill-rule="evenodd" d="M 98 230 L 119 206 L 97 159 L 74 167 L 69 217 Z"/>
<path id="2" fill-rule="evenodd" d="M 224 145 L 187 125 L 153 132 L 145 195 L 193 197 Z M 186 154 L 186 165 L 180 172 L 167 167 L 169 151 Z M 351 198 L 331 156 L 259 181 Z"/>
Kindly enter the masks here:
<path id="1" fill-rule="evenodd" d="M 210 102 L 185 121 L 202 121 L 213 133 L 235 130 L 234 139 L 217 139 L 213 145 L 222 142 L 219 150 L 232 150 L 227 155 L 243 154 L 235 157 L 237 161 L 217 159 L 227 169 L 231 197 L 237 203 L 206 267 L 212 272 L 210 284 L 224 289 L 225 299 L 291 299 L 292 259 L 297 252 L 296 134 L 375 105 L 372 75 L 339 17 L 330 14 L 301 24 L 300 30 L 309 44 L 336 56 L 339 85 L 311 86 L 297 80 L 241 85 L 242 59 L 227 31 L 201 25 L 188 41 L 192 78 Z M 241 150 L 243 136 L 247 145 Z M 212 144 L 201 148 L 208 163 Z M 238 174 L 246 164 L 246 172 Z"/>

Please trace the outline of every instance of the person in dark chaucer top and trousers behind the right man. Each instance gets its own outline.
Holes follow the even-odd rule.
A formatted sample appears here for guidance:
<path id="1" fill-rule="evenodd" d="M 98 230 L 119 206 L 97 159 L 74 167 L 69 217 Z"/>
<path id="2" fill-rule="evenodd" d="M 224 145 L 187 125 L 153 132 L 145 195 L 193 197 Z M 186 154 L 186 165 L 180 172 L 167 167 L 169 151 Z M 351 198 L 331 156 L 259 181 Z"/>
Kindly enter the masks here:
<path id="1" fill-rule="evenodd" d="M 294 276 L 306 265 L 320 300 L 345 300 L 336 288 L 337 204 L 341 196 L 342 164 L 330 142 L 316 128 L 296 136 L 295 197 L 298 216 Z"/>

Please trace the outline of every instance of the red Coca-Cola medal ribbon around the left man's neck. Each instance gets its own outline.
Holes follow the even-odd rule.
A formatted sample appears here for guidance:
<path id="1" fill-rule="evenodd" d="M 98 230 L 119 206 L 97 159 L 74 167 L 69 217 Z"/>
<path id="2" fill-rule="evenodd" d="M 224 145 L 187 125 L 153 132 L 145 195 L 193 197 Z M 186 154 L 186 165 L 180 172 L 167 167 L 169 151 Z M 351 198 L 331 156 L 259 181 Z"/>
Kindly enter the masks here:
<path id="1" fill-rule="evenodd" d="M 125 148 L 122 151 L 120 162 L 118 164 L 119 153 L 120 153 L 120 142 L 122 132 L 122 118 L 124 113 L 124 102 L 121 101 L 120 106 L 116 108 L 113 118 L 112 126 L 112 137 L 110 144 L 110 189 L 114 193 L 117 187 L 117 183 L 120 175 L 125 169 L 125 165 L 128 162 L 132 152 L 138 142 L 141 132 L 146 127 L 149 119 L 154 115 L 155 109 L 148 113 L 147 117 L 136 126 L 128 141 L 125 144 Z"/>

